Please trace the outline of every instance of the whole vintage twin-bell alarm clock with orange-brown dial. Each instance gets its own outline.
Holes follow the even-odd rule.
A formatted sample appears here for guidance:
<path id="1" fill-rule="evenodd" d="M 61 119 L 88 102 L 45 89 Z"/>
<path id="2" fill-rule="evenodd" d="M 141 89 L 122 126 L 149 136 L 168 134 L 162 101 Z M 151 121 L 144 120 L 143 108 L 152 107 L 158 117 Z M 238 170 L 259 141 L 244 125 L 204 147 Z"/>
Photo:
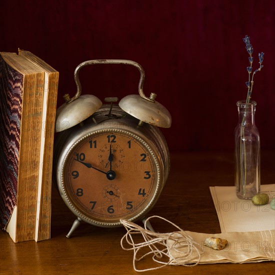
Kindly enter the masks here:
<path id="1" fill-rule="evenodd" d="M 81 94 L 79 70 L 92 64 L 138 68 L 139 94 L 107 97 Z M 85 221 L 102 227 L 137 220 L 152 208 L 166 182 L 170 159 L 158 127 L 170 127 L 167 109 L 156 94 L 143 93 L 144 70 L 131 60 L 88 60 L 74 71 L 75 95 L 64 95 L 56 111 L 55 180 L 62 199 L 77 216 L 67 237 Z"/>

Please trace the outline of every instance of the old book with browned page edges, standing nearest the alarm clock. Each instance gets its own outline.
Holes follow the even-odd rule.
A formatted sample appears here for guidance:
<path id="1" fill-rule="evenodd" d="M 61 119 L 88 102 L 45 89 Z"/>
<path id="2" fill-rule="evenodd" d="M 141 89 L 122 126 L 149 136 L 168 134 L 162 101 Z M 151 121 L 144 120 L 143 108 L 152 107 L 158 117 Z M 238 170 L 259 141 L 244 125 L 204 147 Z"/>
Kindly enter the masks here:
<path id="1" fill-rule="evenodd" d="M 53 137 L 55 127 L 55 113 L 57 101 L 57 87 L 59 72 L 48 65 L 45 61 L 26 50 L 19 50 L 19 56 L 37 64 L 45 71 L 45 87 L 42 112 L 42 141 L 40 163 L 42 184 L 38 189 L 35 235 L 36 241 L 50 238 L 50 213 L 51 213 L 51 174 L 53 157 Z M 38 222 L 37 222 L 38 221 Z"/>

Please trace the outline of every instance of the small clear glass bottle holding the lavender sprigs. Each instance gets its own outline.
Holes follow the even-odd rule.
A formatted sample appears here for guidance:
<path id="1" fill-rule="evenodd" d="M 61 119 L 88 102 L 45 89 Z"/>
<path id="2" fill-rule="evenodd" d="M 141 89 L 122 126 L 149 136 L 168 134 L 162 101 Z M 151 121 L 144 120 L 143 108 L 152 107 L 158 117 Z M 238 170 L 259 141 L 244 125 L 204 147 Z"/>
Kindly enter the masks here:
<path id="1" fill-rule="evenodd" d="M 260 191 L 260 140 L 254 122 L 255 101 L 237 101 L 235 127 L 235 186 L 239 198 L 250 199 Z"/>

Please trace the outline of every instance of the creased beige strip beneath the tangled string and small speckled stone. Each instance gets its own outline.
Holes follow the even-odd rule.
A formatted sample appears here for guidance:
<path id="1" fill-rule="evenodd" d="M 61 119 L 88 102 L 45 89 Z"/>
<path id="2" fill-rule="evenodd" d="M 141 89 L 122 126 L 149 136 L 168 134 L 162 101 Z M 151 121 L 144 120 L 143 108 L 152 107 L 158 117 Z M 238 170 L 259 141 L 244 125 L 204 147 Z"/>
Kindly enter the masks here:
<path id="1" fill-rule="evenodd" d="M 258 262 L 263 260 L 275 260 L 275 230 L 257 232 L 227 232 L 219 234 L 206 234 L 184 231 L 196 242 L 197 251 L 200 254 L 198 263 L 220 263 L 220 262 Z M 214 250 L 203 245 L 204 240 L 209 236 L 224 238 L 228 241 L 222 250 Z M 168 240 L 171 247 L 172 240 Z M 186 247 L 169 250 L 170 264 L 187 264 L 197 261 L 198 253 L 193 249 L 192 255 L 186 257 Z"/>

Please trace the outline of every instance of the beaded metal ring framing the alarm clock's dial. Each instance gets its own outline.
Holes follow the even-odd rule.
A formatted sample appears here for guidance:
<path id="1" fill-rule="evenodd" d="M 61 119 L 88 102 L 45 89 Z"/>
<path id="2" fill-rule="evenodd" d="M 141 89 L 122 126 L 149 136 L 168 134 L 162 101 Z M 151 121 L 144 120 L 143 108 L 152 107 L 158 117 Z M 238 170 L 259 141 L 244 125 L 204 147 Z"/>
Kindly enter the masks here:
<path id="1" fill-rule="evenodd" d="M 66 205 L 68 206 L 68 208 L 76 215 L 78 216 L 80 219 L 90 223 L 90 224 L 94 224 L 97 226 L 101 226 L 101 227 L 117 227 L 117 226 L 121 226 L 121 222 L 104 222 L 104 221 L 98 221 L 98 220 L 94 220 L 91 219 L 89 217 L 87 217 L 86 215 L 82 214 L 80 211 L 77 210 L 77 208 L 73 205 L 73 203 L 71 202 L 71 200 L 69 199 L 67 193 L 66 193 L 66 189 L 65 189 L 65 184 L 64 184 L 64 166 L 68 160 L 69 155 L 71 154 L 71 151 L 75 148 L 75 146 L 77 146 L 77 144 L 79 144 L 83 139 L 86 139 L 87 137 L 93 135 L 93 134 L 97 134 L 97 133 L 104 133 L 104 132 L 117 132 L 117 133 L 123 133 L 126 135 L 130 135 L 131 137 L 134 137 L 135 139 L 137 139 L 140 143 L 142 143 L 146 149 L 148 150 L 148 152 L 151 154 L 154 164 L 156 166 L 156 171 L 157 171 L 157 182 L 156 182 L 156 187 L 154 190 L 154 194 L 152 196 L 152 198 L 150 199 L 149 203 L 146 205 L 145 208 L 143 208 L 139 213 L 137 213 L 136 215 L 134 215 L 133 217 L 129 218 L 129 220 L 134 221 L 138 218 L 140 218 L 142 215 L 145 215 L 145 213 L 147 213 L 151 207 L 154 205 L 154 203 L 157 201 L 158 196 L 160 195 L 160 191 L 162 189 L 163 186 L 161 185 L 161 169 L 160 169 L 160 162 L 157 158 L 157 155 L 155 155 L 155 152 L 153 151 L 153 149 L 151 148 L 151 146 L 145 141 L 143 140 L 141 137 L 139 137 L 137 134 L 135 134 L 134 132 L 128 131 L 128 130 L 124 130 L 124 129 L 117 129 L 117 128 L 105 128 L 105 129 L 95 129 L 91 132 L 88 132 L 86 134 L 84 134 L 82 137 L 78 138 L 75 142 L 73 142 L 73 144 L 70 146 L 70 148 L 67 150 L 67 152 L 65 153 L 64 157 L 63 157 L 63 162 L 61 165 L 61 174 L 60 174 L 60 182 L 58 181 L 58 189 L 59 192 L 61 194 L 62 199 L 64 200 L 64 202 L 66 203 Z M 160 190 L 160 191 L 159 191 Z"/>

